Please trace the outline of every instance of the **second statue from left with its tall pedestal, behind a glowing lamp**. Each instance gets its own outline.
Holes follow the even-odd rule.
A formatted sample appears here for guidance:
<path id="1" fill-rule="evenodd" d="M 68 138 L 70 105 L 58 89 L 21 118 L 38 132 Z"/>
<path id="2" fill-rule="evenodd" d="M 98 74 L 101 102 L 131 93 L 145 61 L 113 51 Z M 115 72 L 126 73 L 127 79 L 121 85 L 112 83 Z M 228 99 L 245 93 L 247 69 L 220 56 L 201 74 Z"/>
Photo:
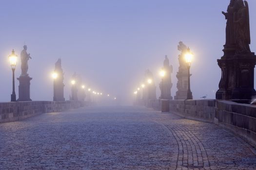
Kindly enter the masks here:
<path id="1" fill-rule="evenodd" d="M 64 98 L 64 73 L 61 68 L 61 59 L 55 63 L 55 73 L 57 73 L 57 78 L 53 82 L 53 101 L 65 101 Z"/>

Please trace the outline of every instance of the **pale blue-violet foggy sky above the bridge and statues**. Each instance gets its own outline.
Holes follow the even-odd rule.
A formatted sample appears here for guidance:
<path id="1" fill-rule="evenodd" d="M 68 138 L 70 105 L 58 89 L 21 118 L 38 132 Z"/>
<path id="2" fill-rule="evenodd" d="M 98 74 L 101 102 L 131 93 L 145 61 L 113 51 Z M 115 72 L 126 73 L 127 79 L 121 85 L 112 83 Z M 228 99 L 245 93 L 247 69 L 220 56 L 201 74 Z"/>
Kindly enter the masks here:
<path id="1" fill-rule="evenodd" d="M 177 44 L 195 54 L 191 90 L 195 99 L 215 98 L 221 76 L 217 59 L 225 43 L 225 17 L 230 0 L 2 0 L 0 3 L 0 101 L 10 101 L 12 72 L 8 55 L 23 45 L 31 54 L 28 73 L 31 99 L 53 100 L 51 72 L 62 59 L 65 98 L 71 75 L 119 99 L 129 99 L 149 68 L 157 84 L 168 55 L 174 67 L 172 96 L 177 91 Z M 248 0 L 251 50 L 256 51 L 256 0 Z M 18 99 L 18 85 L 16 94 Z M 123 100 L 125 101 L 125 100 Z"/>

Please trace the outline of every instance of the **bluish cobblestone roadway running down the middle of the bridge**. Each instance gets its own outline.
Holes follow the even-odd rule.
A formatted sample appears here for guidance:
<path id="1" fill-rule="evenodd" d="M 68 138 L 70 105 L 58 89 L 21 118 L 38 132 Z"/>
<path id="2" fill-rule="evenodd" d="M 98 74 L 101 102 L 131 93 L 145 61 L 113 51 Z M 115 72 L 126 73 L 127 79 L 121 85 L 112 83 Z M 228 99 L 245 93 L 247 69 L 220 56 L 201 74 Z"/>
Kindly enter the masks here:
<path id="1" fill-rule="evenodd" d="M 0 124 L 0 170 L 256 170 L 255 153 L 214 124 L 143 107 Z"/>

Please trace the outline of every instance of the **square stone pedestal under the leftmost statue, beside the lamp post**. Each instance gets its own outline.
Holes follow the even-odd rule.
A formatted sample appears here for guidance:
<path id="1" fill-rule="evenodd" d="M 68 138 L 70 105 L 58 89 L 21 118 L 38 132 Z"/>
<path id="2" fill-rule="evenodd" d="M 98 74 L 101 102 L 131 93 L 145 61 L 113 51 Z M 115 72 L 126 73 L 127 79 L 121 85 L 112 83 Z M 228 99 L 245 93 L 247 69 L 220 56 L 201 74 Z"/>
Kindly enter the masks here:
<path id="1" fill-rule="evenodd" d="M 30 99 L 30 80 L 32 80 L 32 78 L 29 77 L 28 75 L 25 75 L 25 76 L 20 76 L 17 79 L 20 82 L 20 85 L 19 85 L 19 99 L 17 101 L 18 102 L 32 101 Z"/>

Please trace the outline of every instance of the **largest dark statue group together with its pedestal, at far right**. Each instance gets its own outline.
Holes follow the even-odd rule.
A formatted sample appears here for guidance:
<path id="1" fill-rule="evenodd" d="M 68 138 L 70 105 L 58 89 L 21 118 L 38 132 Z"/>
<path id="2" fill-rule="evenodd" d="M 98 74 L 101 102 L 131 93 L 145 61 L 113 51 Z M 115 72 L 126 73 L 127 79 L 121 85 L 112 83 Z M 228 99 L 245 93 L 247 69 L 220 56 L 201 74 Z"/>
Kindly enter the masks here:
<path id="1" fill-rule="evenodd" d="M 254 89 L 256 55 L 250 50 L 249 6 L 246 0 L 231 0 L 227 13 L 224 55 L 218 59 L 221 79 L 216 99 L 251 99 Z"/>

